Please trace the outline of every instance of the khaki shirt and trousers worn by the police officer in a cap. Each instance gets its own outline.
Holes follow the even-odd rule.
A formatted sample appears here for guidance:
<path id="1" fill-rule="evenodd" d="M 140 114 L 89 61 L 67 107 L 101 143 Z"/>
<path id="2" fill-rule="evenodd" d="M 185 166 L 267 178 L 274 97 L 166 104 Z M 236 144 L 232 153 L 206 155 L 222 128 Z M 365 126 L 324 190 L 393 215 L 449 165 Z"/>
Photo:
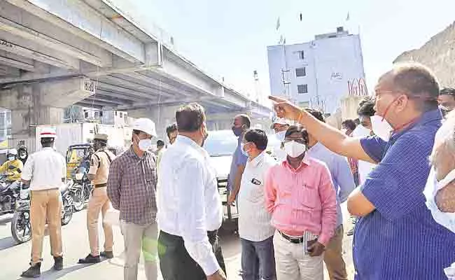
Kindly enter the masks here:
<path id="1" fill-rule="evenodd" d="M 93 180 L 94 189 L 92 197 L 90 197 L 87 207 L 87 230 L 91 254 L 94 256 L 99 255 L 98 217 L 100 211 L 103 216 L 104 251 L 112 251 L 112 225 L 104 223 L 104 216 L 106 215 L 106 211 L 111 208 L 111 202 L 106 193 L 106 186 L 109 176 L 109 166 L 114 158 L 116 156 L 107 148 L 104 148 L 94 153 L 90 160 L 90 171 L 88 173 L 95 177 Z"/>

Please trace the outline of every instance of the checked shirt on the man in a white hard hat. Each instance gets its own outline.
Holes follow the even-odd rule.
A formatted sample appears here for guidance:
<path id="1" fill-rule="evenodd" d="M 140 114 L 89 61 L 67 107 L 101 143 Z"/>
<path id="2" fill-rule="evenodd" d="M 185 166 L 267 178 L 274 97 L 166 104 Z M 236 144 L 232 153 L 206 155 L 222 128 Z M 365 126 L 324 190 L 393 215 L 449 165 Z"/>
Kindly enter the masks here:
<path id="1" fill-rule="evenodd" d="M 137 225 L 156 222 L 156 160 L 145 152 L 142 158 L 133 148 L 113 160 L 109 169 L 107 193 L 120 220 Z"/>

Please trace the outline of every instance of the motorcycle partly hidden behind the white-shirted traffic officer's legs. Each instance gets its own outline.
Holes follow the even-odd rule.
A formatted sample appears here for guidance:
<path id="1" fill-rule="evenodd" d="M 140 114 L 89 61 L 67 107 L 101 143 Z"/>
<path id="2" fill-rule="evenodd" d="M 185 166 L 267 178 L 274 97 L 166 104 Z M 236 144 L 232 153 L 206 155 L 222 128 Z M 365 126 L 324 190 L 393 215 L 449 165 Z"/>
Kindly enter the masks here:
<path id="1" fill-rule="evenodd" d="M 60 194 L 62 195 L 62 213 L 60 214 L 62 225 L 67 225 L 73 218 L 73 193 L 69 190 L 70 187 L 69 183 L 66 183 L 60 188 Z M 29 188 L 20 188 L 20 195 L 16 201 L 16 209 L 11 220 L 11 235 L 18 244 L 31 239 Z"/>

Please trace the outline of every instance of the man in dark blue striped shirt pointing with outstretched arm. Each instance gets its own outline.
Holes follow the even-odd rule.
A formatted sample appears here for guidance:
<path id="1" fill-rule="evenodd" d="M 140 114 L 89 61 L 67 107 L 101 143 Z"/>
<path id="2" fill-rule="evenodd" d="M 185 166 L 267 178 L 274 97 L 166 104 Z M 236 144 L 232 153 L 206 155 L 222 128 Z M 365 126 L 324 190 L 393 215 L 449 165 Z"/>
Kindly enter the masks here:
<path id="1" fill-rule="evenodd" d="M 346 137 L 290 102 L 271 97 L 279 117 L 305 125 L 330 150 L 378 163 L 348 199 L 351 214 L 362 217 L 353 244 L 358 280 L 446 279 L 443 269 L 455 259 L 455 234 L 433 221 L 422 193 L 442 119 L 438 94 L 437 80 L 424 66 L 396 66 L 375 88 L 381 118 L 372 120 L 377 136 L 365 139 Z M 390 135 L 384 133 L 387 123 L 389 139 L 384 137 Z"/>

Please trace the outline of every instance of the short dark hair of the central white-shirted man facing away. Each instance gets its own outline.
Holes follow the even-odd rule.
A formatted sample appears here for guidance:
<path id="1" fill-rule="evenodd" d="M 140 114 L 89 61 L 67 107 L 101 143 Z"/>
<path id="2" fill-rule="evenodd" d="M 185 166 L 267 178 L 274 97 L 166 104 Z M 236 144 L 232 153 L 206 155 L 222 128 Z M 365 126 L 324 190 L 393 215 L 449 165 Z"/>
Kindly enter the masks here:
<path id="1" fill-rule="evenodd" d="M 204 107 L 197 103 L 182 106 L 176 111 L 176 120 L 179 132 L 196 132 L 205 122 Z"/>

